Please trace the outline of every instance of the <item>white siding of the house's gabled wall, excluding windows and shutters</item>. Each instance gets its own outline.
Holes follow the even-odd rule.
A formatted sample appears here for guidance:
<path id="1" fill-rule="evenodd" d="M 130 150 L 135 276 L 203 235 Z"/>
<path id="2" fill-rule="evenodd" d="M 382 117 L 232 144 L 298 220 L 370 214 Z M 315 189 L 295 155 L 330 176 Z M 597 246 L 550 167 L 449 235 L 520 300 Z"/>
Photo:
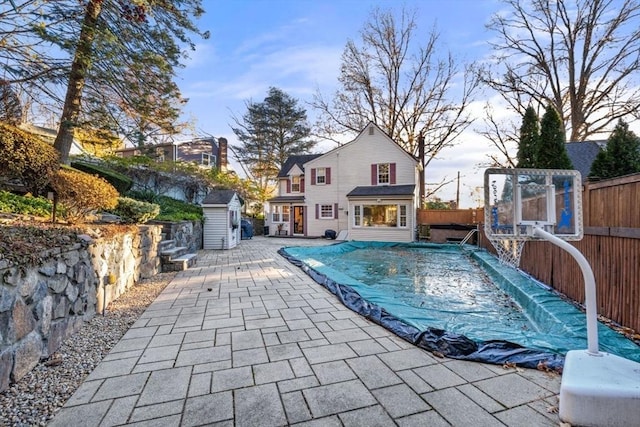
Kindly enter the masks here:
<path id="1" fill-rule="evenodd" d="M 371 126 L 371 125 L 370 125 Z M 371 165 L 378 163 L 396 164 L 395 185 L 416 185 L 416 190 L 408 212 L 407 229 L 351 230 L 349 229 L 349 201 L 347 194 L 358 186 L 371 185 Z M 336 232 L 349 230 L 351 240 L 412 241 L 415 206 L 418 192 L 417 161 L 402 150 L 377 127 L 369 135 L 368 127 L 352 142 L 337 148 L 305 164 L 305 204 L 308 207 L 307 235 L 322 236 L 326 229 Z M 331 183 L 312 185 L 312 168 L 331 168 Z M 375 204 L 377 200 L 367 202 Z M 317 219 L 316 204 L 338 204 L 338 219 Z M 397 203 L 383 201 L 379 203 Z M 405 201 L 406 203 L 406 201 Z M 355 234 L 354 234 L 355 233 Z"/>

